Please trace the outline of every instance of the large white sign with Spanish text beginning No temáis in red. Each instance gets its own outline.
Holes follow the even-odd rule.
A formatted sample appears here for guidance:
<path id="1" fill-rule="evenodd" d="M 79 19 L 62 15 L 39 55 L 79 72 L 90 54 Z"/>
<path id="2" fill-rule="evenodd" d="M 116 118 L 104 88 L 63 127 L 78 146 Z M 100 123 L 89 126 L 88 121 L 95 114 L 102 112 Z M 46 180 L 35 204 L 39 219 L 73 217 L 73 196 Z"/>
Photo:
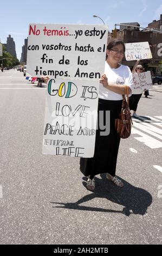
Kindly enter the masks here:
<path id="1" fill-rule="evenodd" d="M 99 81 L 107 31 L 103 25 L 29 25 L 28 74 Z"/>

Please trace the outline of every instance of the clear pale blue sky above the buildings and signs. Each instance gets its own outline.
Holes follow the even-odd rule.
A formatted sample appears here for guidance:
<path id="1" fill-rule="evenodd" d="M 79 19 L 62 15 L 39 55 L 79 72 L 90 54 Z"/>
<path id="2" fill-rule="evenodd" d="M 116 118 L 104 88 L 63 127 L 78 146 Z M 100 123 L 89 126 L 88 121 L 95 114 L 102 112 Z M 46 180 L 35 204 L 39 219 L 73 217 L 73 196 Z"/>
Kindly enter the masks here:
<path id="1" fill-rule="evenodd" d="M 139 22 L 146 27 L 162 14 L 161 0 L 8 0 L 1 1 L 0 39 L 6 43 L 11 34 L 21 58 L 29 23 L 101 24 L 100 16 L 109 31 L 115 23 Z M 118 27 L 117 27 L 118 28 Z"/>

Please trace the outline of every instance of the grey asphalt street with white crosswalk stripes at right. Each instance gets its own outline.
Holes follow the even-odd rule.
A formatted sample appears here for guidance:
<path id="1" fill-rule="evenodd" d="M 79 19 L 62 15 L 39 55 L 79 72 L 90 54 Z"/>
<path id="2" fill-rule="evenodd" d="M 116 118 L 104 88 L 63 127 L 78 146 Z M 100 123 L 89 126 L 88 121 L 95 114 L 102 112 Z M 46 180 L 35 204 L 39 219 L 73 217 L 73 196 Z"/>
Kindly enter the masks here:
<path id="1" fill-rule="evenodd" d="M 121 139 L 116 175 L 86 189 L 79 158 L 42 154 L 46 85 L 0 72 L 0 243 L 159 244 L 162 86 L 142 95 L 132 134 Z"/>

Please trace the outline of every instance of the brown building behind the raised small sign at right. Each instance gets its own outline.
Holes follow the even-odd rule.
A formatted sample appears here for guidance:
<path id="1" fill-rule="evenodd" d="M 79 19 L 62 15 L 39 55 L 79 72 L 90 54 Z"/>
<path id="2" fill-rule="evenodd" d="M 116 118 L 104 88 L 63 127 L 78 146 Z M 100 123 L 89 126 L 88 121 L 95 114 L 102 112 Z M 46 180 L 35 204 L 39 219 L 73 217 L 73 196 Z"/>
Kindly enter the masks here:
<path id="1" fill-rule="evenodd" d="M 152 59 L 142 59 L 140 64 L 144 65 L 145 70 L 153 71 L 154 75 L 161 74 L 161 60 L 162 60 L 162 33 L 150 31 L 149 28 L 162 32 L 162 14 L 160 20 L 153 20 L 148 24 L 148 27 L 143 30 L 139 30 L 137 27 L 129 27 L 129 25 L 140 26 L 138 22 L 122 23 L 120 29 L 113 29 L 113 33 L 108 35 L 108 42 L 113 38 L 122 39 L 125 43 L 131 42 L 145 42 L 148 41 L 152 52 Z M 126 61 L 124 58 L 122 64 L 133 68 L 134 61 Z"/>

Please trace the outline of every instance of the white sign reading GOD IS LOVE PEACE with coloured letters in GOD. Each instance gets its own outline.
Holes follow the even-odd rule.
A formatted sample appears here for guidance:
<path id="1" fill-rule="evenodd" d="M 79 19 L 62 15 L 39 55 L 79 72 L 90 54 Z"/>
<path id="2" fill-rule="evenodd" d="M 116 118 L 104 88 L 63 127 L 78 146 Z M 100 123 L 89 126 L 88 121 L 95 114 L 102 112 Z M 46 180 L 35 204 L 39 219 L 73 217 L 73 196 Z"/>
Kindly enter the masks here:
<path id="1" fill-rule="evenodd" d="M 93 157 L 99 82 L 48 82 L 44 117 L 43 153 Z"/>

